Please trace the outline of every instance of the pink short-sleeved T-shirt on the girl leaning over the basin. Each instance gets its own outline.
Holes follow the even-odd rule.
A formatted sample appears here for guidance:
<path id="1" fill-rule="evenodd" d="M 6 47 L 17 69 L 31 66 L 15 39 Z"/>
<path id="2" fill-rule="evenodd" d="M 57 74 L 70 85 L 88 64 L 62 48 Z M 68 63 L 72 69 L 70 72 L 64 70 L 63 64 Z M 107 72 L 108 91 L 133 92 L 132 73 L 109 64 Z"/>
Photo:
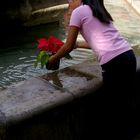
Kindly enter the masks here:
<path id="1" fill-rule="evenodd" d="M 82 36 L 96 53 L 101 65 L 132 49 L 113 24 L 101 23 L 93 16 L 88 5 L 81 5 L 73 10 L 70 26 L 80 29 Z"/>

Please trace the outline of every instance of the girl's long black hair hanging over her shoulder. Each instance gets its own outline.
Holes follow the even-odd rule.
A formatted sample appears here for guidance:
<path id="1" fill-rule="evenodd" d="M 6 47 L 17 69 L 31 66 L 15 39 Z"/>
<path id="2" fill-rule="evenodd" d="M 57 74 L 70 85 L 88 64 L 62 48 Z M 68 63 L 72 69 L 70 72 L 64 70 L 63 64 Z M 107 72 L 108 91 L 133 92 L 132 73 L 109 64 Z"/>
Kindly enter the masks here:
<path id="1" fill-rule="evenodd" d="M 112 16 L 104 6 L 104 0 L 82 0 L 83 4 L 88 5 L 93 13 L 101 22 L 109 24 L 113 21 Z"/>

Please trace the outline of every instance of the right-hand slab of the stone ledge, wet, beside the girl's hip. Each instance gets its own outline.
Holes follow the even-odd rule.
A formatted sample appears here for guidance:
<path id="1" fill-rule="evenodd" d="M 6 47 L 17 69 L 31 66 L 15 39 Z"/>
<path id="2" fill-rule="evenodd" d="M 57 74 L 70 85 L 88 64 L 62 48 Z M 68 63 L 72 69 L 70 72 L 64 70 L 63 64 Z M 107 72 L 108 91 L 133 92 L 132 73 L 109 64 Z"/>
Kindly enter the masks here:
<path id="1" fill-rule="evenodd" d="M 42 78 L 62 87 L 75 97 L 94 92 L 102 83 L 101 68 L 93 64 L 92 60 L 43 75 Z"/>

